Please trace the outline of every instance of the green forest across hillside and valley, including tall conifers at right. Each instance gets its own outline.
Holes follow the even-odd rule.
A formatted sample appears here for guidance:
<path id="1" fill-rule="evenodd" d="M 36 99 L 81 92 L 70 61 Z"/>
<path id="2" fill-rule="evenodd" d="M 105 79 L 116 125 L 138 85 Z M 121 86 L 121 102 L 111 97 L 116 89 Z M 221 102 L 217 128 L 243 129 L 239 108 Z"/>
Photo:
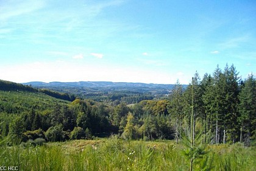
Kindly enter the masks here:
<path id="1" fill-rule="evenodd" d="M 196 72 L 186 88 L 177 81 L 164 99 L 143 93 L 138 94 L 140 99 L 132 99 L 121 92 L 105 102 L 1 80 L 1 138 L 8 136 L 15 144 L 118 134 L 123 139 L 175 139 L 180 143 L 186 130 L 194 130 L 193 136 L 207 134 L 204 141 L 211 144 L 252 145 L 256 80 L 253 75 L 242 80 L 238 74 L 233 65 L 223 70 L 217 66 L 202 79 Z"/>

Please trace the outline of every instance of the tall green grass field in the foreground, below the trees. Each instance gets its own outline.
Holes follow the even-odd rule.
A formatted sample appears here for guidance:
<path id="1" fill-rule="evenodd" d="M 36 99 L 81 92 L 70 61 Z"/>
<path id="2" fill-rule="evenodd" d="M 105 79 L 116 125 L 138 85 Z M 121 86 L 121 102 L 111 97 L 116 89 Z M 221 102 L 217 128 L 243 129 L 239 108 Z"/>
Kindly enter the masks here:
<path id="1" fill-rule="evenodd" d="M 186 147 L 174 141 L 108 139 L 52 142 L 41 146 L 1 143 L 1 166 L 19 170 L 189 170 Z M 208 145 L 193 170 L 256 170 L 256 148 Z"/>

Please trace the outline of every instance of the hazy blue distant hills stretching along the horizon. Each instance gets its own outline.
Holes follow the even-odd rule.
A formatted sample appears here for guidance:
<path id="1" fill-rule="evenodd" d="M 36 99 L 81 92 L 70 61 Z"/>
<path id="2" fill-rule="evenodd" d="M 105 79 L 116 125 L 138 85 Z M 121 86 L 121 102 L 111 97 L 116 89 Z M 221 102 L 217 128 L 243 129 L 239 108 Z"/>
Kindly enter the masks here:
<path id="1" fill-rule="evenodd" d="M 166 96 L 171 92 L 172 84 L 153 84 L 153 83 L 127 83 L 127 82 L 28 82 L 23 85 L 30 85 L 35 88 L 52 89 L 59 92 L 71 94 L 90 94 L 99 96 L 113 94 L 116 92 L 142 93 L 152 96 Z M 186 88 L 187 85 L 183 85 Z"/>

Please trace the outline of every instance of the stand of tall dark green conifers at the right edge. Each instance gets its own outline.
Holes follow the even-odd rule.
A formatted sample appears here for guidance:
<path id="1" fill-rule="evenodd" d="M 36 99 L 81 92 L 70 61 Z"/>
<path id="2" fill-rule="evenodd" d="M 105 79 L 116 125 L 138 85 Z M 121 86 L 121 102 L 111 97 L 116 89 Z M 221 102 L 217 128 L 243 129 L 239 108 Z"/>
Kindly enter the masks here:
<path id="1" fill-rule="evenodd" d="M 222 71 L 219 66 L 213 74 L 205 74 L 202 80 L 194 74 L 187 89 L 182 91 L 179 83 L 171 94 L 171 113 L 176 116 L 176 141 L 184 118 L 193 119 L 204 133 L 212 133 L 212 143 L 246 142 L 255 139 L 256 91 L 255 79 L 249 75 L 241 80 L 235 67 Z"/>

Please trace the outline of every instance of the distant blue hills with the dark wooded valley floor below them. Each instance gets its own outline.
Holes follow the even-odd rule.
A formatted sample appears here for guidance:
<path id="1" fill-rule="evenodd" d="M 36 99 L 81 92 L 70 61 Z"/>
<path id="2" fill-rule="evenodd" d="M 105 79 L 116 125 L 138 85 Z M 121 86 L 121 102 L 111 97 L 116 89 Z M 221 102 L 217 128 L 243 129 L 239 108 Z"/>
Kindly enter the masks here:
<path id="1" fill-rule="evenodd" d="M 118 100 L 128 104 L 138 103 L 141 100 L 166 99 L 174 86 L 126 82 L 29 82 L 23 84 L 75 94 L 82 99 L 91 99 L 97 102 Z M 183 85 L 183 88 L 185 87 L 186 85 Z"/>

